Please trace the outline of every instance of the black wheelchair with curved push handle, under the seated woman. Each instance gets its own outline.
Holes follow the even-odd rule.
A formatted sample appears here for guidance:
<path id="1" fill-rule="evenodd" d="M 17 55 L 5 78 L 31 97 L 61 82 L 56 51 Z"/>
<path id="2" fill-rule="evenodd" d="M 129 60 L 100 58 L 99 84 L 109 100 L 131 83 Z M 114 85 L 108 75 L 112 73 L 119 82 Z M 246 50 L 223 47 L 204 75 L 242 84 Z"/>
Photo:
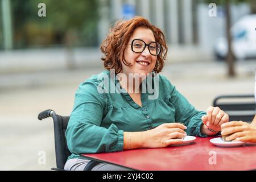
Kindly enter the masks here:
<path id="1" fill-rule="evenodd" d="M 68 150 L 67 140 L 65 137 L 65 131 L 67 130 L 69 116 L 61 116 L 55 113 L 55 111 L 48 109 L 42 111 L 38 115 L 38 119 L 42 120 L 45 118 L 52 117 L 53 127 L 54 127 L 54 139 L 55 139 L 55 156 L 56 156 L 56 168 L 52 170 L 63 171 L 65 163 L 68 159 L 68 156 L 71 155 L 71 152 Z M 90 171 L 98 163 L 97 161 L 91 160 L 84 171 Z"/>

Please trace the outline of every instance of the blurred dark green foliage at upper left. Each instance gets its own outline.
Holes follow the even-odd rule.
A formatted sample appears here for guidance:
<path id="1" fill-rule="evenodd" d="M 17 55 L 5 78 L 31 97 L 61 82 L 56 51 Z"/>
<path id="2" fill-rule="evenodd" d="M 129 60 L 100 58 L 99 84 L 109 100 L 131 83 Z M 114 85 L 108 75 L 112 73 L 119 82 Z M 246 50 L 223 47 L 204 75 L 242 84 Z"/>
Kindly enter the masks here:
<path id="1" fill-rule="evenodd" d="M 14 48 L 97 46 L 97 8 L 97 0 L 12 0 Z"/>

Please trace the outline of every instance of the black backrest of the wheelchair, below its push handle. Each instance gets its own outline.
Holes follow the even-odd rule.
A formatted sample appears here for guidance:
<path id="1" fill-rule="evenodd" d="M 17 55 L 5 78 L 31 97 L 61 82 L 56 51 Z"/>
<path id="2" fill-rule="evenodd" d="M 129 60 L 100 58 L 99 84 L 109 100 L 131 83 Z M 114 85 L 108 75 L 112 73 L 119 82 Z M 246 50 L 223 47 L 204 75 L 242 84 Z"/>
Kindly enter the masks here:
<path id="1" fill-rule="evenodd" d="M 68 150 L 65 131 L 67 130 L 69 116 L 52 114 L 55 139 L 56 165 L 59 169 L 64 169 L 65 163 L 71 152 Z"/>

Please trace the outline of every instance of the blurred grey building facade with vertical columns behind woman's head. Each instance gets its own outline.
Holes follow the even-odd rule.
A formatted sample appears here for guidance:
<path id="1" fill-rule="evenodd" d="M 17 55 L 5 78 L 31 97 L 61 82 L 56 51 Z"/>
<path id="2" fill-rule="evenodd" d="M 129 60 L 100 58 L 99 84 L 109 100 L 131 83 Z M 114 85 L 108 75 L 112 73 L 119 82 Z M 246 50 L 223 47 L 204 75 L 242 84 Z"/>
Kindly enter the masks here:
<path id="1" fill-rule="evenodd" d="M 216 16 L 209 16 L 211 7 L 196 0 L 100 0 L 99 42 L 108 33 L 109 25 L 125 18 L 126 5 L 134 6 L 135 15 L 143 16 L 161 28 L 173 46 L 197 45 L 212 48 L 214 39 L 225 36 L 225 10 L 217 5 Z M 232 23 L 251 13 L 247 3 L 232 5 Z"/>

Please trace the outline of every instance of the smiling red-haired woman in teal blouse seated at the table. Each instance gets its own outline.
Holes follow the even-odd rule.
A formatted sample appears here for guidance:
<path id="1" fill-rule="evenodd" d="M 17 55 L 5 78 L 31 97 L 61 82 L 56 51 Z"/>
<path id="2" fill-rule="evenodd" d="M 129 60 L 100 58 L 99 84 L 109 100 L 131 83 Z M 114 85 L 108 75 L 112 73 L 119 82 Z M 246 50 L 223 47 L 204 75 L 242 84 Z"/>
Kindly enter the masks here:
<path id="1" fill-rule="evenodd" d="M 76 92 L 66 132 L 72 155 L 65 169 L 83 169 L 89 162 L 81 156 L 84 153 L 181 144 L 186 135 L 216 135 L 228 122 L 218 107 L 197 111 L 158 74 L 167 55 L 166 40 L 148 20 L 135 17 L 117 23 L 101 51 L 106 71 L 90 77 Z M 113 85 L 118 92 L 112 92 Z M 123 168 L 105 163 L 93 168 L 112 169 Z"/>

